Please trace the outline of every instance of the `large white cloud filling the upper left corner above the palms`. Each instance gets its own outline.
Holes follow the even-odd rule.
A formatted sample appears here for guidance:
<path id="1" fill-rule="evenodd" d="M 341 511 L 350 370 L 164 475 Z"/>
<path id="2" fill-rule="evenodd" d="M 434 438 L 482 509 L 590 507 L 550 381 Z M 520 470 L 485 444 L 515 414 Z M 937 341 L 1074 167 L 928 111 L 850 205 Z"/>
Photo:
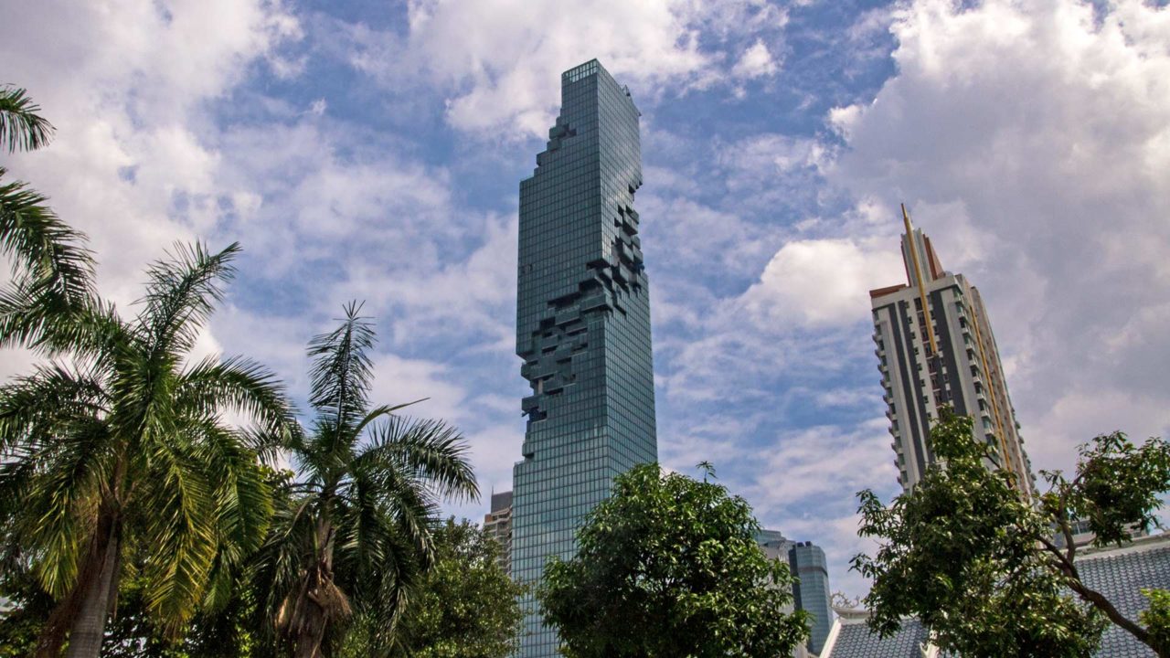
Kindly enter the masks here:
<path id="1" fill-rule="evenodd" d="M 101 259 L 99 282 L 125 306 L 150 260 L 218 221 L 220 155 L 204 103 L 295 39 L 297 23 L 278 4 L 235 0 L 46 1 L 5 19 L 6 76 L 57 128 L 47 149 L 13 158 L 12 174 L 48 194 L 99 255 L 117 254 Z"/>

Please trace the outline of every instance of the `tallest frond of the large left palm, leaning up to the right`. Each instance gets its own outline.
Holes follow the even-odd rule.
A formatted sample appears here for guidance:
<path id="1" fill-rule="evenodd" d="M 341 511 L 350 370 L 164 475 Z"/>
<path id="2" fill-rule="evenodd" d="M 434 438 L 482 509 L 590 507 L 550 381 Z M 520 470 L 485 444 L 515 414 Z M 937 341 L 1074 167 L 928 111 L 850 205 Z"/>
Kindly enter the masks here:
<path id="1" fill-rule="evenodd" d="M 223 296 L 220 285 L 235 275 L 232 260 L 240 253 L 233 242 L 211 253 L 201 242 L 177 244 L 168 260 L 156 261 L 149 269 L 146 295 L 138 302 L 137 331 L 152 355 L 180 355 L 194 345 L 215 302 Z"/>

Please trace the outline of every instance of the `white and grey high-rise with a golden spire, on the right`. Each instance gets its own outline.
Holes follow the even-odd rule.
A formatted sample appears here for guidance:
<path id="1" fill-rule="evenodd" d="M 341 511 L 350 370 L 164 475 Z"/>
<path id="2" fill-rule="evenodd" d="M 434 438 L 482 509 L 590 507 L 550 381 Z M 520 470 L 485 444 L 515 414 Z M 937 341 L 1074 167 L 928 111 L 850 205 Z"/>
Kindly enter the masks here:
<path id="1" fill-rule="evenodd" d="M 998 466 L 1031 499 L 1035 479 L 983 299 L 962 274 L 943 269 L 904 206 L 902 219 L 907 283 L 869 292 L 897 480 L 909 491 L 922 479 L 935 460 L 927 444 L 930 424 L 950 405 L 975 418 L 975 438 L 994 448 Z"/>

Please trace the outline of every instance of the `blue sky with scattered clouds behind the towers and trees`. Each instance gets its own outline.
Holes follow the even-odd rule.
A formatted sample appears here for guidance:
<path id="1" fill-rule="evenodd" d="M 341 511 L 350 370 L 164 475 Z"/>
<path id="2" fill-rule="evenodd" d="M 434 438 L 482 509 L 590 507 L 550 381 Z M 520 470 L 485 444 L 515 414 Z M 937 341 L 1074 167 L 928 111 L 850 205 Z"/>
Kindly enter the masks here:
<path id="1" fill-rule="evenodd" d="M 488 494 L 524 431 L 518 184 L 593 57 L 642 112 L 660 459 L 714 462 L 832 589 L 867 589 L 854 494 L 899 492 L 867 290 L 904 279 L 900 203 L 983 293 L 1038 469 L 1170 434 L 1165 0 L 20 2 L 0 82 L 56 138 L 0 159 L 123 313 L 176 241 L 240 241 L 199 349 L 302 407 L 305 344 L 364 301 L 373 400 L 429 398 Z"/>

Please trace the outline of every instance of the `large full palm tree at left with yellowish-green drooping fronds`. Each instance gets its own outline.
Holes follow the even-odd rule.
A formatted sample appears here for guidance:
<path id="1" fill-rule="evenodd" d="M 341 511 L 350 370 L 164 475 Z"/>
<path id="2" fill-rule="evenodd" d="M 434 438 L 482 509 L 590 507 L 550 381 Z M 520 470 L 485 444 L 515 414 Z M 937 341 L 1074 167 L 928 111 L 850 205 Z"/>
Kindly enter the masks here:
<path id="1" fill-rule="evenodd" d="M 178 247 L 132 321 L 98 302 L 55 320 L 68 361 L 0 388 L 0 534 L 57 601 L 41 656 L 67 637 L 68 656 L 98 656 L 129 548 L 147 609 L 174 630 L 263 542 L 257 457 L 294 425 L 290 406 L 250 361 L 188 357 L 238 252 Z"/>

